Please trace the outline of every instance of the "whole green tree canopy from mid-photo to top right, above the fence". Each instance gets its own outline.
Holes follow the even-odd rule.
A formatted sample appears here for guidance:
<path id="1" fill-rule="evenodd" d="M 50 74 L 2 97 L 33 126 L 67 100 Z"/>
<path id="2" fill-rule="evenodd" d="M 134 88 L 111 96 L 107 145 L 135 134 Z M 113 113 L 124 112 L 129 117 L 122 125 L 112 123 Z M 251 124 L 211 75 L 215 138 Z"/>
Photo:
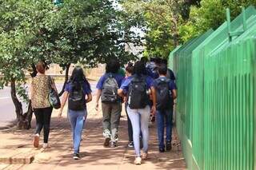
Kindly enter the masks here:
<path id="1" fill-rule="evenodd" d="M 146 57 L 168 57 L 177 45 L 189 41 L 210 28 L 241 13 L 243 6 L 255 0 L 123 0 L 124 9 L 137 16 L 146 38 Z"/>

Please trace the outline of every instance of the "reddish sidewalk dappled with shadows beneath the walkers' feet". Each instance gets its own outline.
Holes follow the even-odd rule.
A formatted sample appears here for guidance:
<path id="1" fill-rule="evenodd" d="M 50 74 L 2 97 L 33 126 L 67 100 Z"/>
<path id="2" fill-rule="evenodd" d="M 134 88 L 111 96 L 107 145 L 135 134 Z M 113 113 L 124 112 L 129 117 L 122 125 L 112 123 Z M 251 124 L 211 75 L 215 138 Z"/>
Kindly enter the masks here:
<path id="1" fill-rule="evenodd" d="M 1 148 L 33 148 L 32 138 L 34 136 L 35 122 L 32 122 L 32 129 L 30 130 L 16 130 L 8 129 L 1 131 L 3 134 L 8 135 L 9 143 L 0 144 Z M 11 135 L 10 135 L 11 134 Z M 86 127 L 82 134 L 82 142 L 80 147 L 81 160 L 73 160 L 72 151 L 72 132 L 70 123 L 66 118 L 61 121 L 57 117 L 52 117 L 50 127 L 50 145 L 42 152 L 35 156 L 32 164 L 24 165 L 24 169 L 35 169 L 34 166 L 38 165 L 41 169 L 44 166 L 54 166 L 55 168 L 90 168 L 100 169 L 107 167 L 130 167 L 133 168 L 134 164 L 134 149 L 127 148 L 128 132 L 126 117 L 121 118 L 119 132 L 118 132 L 118 147 L 104 148 L 102 136 L 102 119 L 88 117 L 86 120 Z M 177 132 L 173 132 L 174 142 L 179 142 Z M 42 135 L 41 139 L 42 141 Z M 177 141 L 175 141 L 177 140 Z M 150 125 L 150 156 L 145 160 L 140 168 L 147 169 L 185 169 L 186 165 L 182 158 L 180 148 L 173 147 L 171 152 L 159 153 L 157 130 L 155 125 Z M 150 167 L 150 168 L 149 168 Z M 137 166 L 138 168 L 138 166 Z M 114 168 L 114 169 L 127 169 L 127 168 Z"/>

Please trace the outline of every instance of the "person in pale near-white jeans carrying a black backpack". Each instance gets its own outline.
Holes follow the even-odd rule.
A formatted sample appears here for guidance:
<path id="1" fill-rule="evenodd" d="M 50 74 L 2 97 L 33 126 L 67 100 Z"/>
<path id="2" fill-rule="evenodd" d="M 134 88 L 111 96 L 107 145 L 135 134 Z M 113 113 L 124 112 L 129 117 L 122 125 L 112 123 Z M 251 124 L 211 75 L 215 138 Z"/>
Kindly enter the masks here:
<path id="1" fill-rule="evenodd" d="M 154 90 L 154 80 L 146 76 L 146 68 L 143 62 L 137 61 L 134 65 L 134 75 L 127 78 L 118 89 L 120 96 L 127 95 L 128 107 L 127 113 L 130 117 L 133 128 L 133 140 L 135 150 L 134 164 L 141 164 L 142 159 L 148 156 L 148 140 L 149 140 L 149 117 L 150 104 L 149 95 L 152 93 L 153 105 L 152 113 L 156 111 L 156 94 Z M 142 132 L 143 152 L 140 151 L 140 132 Z"/>

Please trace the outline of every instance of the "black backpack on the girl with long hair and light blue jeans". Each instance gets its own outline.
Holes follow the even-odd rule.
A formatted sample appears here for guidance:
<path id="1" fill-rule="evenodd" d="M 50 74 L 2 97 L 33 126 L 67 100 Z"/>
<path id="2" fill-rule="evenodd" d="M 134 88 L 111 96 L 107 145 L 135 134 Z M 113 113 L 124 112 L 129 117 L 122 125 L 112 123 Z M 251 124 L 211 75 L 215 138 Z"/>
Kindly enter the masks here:
<path id="1" fill-rule="evenodd" d="M 86 109 L 86 99 L 83 93 L 82 85 L 80 88 L 75 89 L 74 85 L 72 85 L 71 92 L 69 95 L 69 109 L 71 110 L 84 110 Z"/>

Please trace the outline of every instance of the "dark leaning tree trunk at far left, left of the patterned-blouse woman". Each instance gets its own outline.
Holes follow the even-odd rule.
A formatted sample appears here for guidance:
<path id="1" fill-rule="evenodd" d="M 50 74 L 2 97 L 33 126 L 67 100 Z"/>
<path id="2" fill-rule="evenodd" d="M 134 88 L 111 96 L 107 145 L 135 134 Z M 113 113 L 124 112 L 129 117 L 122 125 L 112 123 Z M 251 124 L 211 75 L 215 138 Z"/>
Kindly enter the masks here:
<path id="1" fill-rule="evenodd" d="M 26 117 L 26 114 L 23 115 L 23 110 L 22 110 L 22 103 L 18 101 L 18 97 L 16 95 L 16 87 L 15 87 L 15 80 L 12 79 L 10 82 L 10 94 L 11 94 L 11 99 L 14 102 L 15 106 L 15 113 L 17 116 L 17 128 L 18 129 L 29 129 L 30 128 L 30 123 Z"/>

